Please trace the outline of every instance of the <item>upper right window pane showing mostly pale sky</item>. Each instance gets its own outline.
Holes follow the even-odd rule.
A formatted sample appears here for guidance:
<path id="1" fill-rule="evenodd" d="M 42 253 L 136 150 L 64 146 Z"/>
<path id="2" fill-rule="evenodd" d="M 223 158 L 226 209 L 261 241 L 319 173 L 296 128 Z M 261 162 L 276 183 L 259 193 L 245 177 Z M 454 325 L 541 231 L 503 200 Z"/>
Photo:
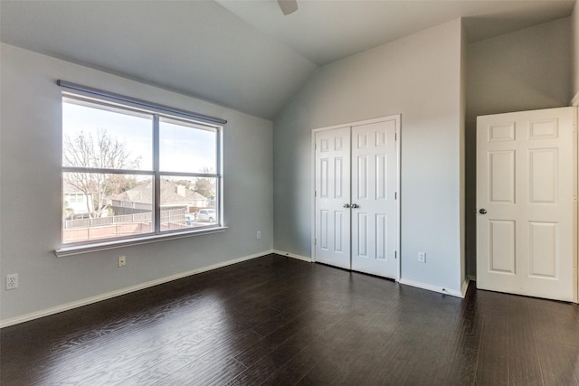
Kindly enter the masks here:
<path id="1" fill-rule="evenodd" d="M 162 172 L 216 174 L 217 130 L 161 118 L 159 155 Z"/>

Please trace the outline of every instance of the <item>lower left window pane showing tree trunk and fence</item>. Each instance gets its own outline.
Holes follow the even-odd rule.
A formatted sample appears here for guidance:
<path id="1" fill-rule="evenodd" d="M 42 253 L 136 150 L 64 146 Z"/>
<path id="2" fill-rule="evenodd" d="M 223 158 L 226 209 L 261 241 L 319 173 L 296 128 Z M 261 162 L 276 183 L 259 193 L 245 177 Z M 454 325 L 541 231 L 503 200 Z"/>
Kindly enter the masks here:
<path id="1" fill-rule="evenodd" d="M 62 241 L 115 239 L 153 230 L 153 177 L 63 173 Z"/>

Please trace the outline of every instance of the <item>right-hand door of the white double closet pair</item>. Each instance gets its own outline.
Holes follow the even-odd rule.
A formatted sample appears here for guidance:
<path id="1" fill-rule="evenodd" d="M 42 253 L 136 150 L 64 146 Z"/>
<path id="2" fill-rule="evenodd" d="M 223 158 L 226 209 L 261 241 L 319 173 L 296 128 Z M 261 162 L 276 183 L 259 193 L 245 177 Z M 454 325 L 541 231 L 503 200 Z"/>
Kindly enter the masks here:
<path id="1" fill-rule="evenodd" d="M 396 278 L 397 120 L 352 127 L 352 269 Z"/>

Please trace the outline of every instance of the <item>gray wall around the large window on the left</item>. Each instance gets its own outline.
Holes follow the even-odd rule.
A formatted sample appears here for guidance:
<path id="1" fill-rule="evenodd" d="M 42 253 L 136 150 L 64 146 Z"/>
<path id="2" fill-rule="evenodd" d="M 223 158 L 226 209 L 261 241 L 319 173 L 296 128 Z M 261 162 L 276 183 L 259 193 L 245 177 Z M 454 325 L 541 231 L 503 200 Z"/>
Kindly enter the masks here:
<path id="1" fill-rule="evenodd" d="M 0 316 L 42 313 L 197 268 L 272 249 L 272 123 L 199 99 L 1 47 L 0 271 L 20 287 L 0 290 Z M 61 240 L 61 91 L 69 80 L 229 120 L 224 127 L 223 233 L 56 258 Z M 256 239 L 261 231 L 261 240 Z M 117 257 L 127 267 L 117 268 Z"/>

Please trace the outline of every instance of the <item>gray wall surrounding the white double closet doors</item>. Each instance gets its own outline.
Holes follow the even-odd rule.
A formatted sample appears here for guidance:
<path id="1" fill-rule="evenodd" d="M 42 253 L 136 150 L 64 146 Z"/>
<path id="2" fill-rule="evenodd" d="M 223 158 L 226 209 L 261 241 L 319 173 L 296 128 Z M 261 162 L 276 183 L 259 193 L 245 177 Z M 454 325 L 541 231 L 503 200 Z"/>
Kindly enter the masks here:
<path id="1" fill-rule="evenodd" d="M 275 249 L 311 256 L 311 130 L 400 113 L 402 278 L 460 292 L 461 36 L 455 20 L 329 64 L 281 111 Z"/>

